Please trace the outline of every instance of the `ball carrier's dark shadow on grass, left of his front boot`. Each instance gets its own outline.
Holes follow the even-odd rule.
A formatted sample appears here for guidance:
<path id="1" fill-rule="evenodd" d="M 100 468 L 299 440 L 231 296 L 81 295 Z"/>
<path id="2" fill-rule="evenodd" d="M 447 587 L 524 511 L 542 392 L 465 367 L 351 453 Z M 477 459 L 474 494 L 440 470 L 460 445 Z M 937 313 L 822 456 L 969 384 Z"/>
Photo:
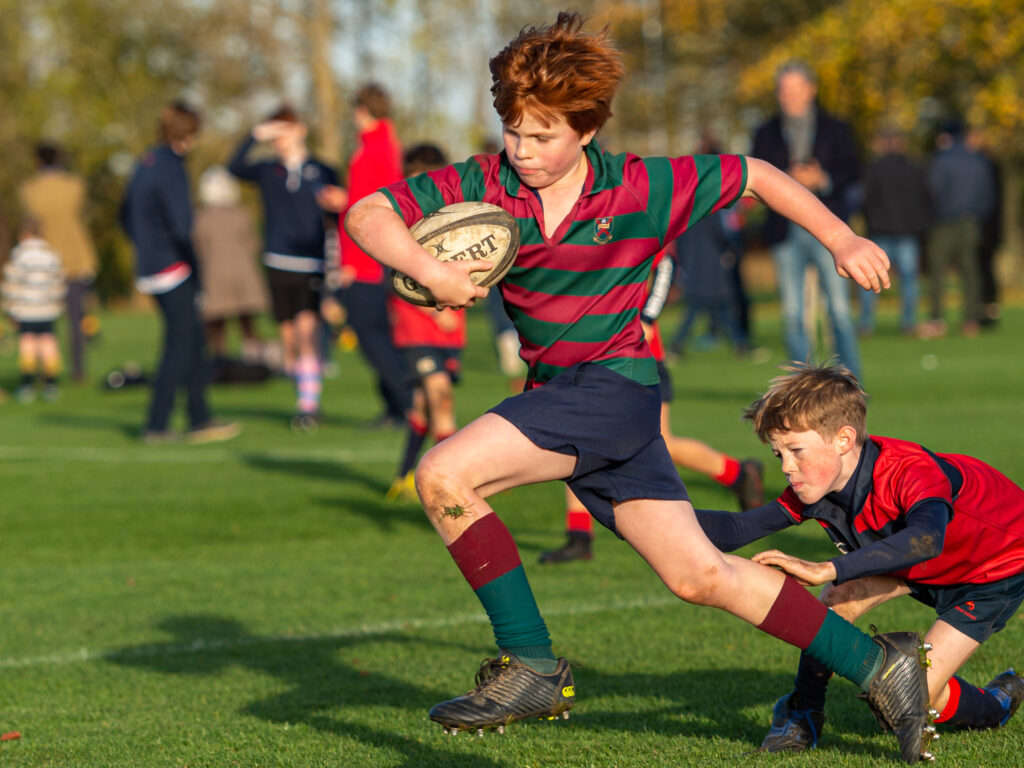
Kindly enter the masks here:
<path id="1" fill-rule="evenodd" d="M 368 709 L 393 708 L 408 719 L 410 712 L 423 712 L 452 695 L 411 684 L 373 670 L 360 669 L 346 651 L 382 642 L 403 645 L 432 641 L 404 632 L 368 632 L 357 637 L 270 638 L 251 635 L 233 618 L 213 615 L 172 616 L 160 628 L 172 639 L 166 643 L 124 648 L 106 655 L 106 660 L 168 675 L 217 675 L 231 667 L 273 676 L 290 687 L 284 693 L 245 705 L 240 712 L 270 723 L 304 723 L 328 733 L 355 739 L 368 748 L 403 757 L 400 768 L 455 766 L 456 768 L 502 768 L 479 753 L 454 754 L 441 740 L 439 728 L 430 733 L 418 728 L 409 734 L 387 730 L 368 722 L 348 719 L 347 713 Z M 452 647 L 459 647 L 455 644 Z M 479 652 L 478 646 L 463 647 Z M 350 659 L 350 663 L 347 659 Z M 369 716 L 364 716 L 367 720 Z M 425 719 L 425 718 L 424 718 Z M 427 738 L 436 735 L 436 738 Z"/>

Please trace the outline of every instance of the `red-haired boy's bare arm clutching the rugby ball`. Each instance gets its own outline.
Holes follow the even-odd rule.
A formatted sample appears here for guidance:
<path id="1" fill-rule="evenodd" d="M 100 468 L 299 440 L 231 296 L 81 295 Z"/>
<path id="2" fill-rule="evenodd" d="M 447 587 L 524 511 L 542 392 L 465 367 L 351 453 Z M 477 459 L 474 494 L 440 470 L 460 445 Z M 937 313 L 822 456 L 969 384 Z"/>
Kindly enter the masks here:
<path id="1" fill-rule="evenodd" d="M 345 229 L 359 248 L 382 264 L 430 289 L 438 307 L 470 306 L 487 295 L 487 289 L 475 285 L 469 275 L 489 269 L 489 261 L 437 261 L 410 234 L 406 222 L 381 193 L 367 196 L 349 209 Z"/>

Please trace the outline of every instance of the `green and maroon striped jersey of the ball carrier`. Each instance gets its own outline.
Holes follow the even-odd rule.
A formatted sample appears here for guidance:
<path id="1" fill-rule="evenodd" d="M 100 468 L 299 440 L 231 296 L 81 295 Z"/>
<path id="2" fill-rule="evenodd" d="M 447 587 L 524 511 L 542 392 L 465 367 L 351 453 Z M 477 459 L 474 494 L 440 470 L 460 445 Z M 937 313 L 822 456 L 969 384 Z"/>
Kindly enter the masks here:
<path id="1" fill-rule="evenodd" d="M 407 225 L 463 201 L 492 203 L 516 218 L 519 254 L 500 288 L 532 381 L 597 362 L 656 384 L 640 325 L 651 260 L 690 224 L 738 200 L 746 163 L 735 155 L 611 155 L 595 141 L 586 153 L 583 193 L 551 238 L 544 234 L 540 198 L 504 153 L 478 155 L 381 191 Z"/>

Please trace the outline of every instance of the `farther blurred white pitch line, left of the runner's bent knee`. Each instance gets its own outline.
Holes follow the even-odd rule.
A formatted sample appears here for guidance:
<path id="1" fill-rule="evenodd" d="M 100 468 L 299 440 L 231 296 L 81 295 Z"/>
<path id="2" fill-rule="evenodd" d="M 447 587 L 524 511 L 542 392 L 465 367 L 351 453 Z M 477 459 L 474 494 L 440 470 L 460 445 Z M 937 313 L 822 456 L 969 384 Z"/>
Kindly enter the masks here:
<path id="1" fill-rule="evenodd" d="M 228 451 L 195 446 L 185 450 L 167 447 L 100 449 L 89 445 L 35 446 L 0 445 L 0 460 L 99 462 L 108 464 L 217 464 L 246 461 L 285 464 L 313 462 L 322 464 L 385 464 L 394 462 L 393 450 L 352 451 L 324 449 L 322 451 Z"/>

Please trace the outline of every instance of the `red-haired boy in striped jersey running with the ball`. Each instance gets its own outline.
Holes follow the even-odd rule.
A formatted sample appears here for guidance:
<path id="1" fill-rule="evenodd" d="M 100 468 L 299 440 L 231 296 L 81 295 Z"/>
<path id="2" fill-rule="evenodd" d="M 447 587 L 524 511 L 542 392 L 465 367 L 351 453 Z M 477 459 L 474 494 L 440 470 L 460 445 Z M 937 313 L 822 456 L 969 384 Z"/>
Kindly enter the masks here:
<path id="1" fill-rule="evenodd" d="M 602 151 L 594 136 L 610 115 L 623 67 L 606 31 L 586 34 L 582 26 L 579 14 L 559 13 L 550 27 L 522 30 L 490 60 L 501 155 L 388 186 L 346 217 L 367 253 L 452 308 L 486 296 L 470 273 L 489 263 L 439 262 L 409 225 L 472 200 L 501 206 L 520 228 L 519 254 L 501 292 L 529 367 L 526 391 L 435 445 L 416 473 L 424 509 L 487 611 L 501 649 L 481 665 L 472 691 L 437 705 L 430 717 L 452 732 L 482 732 L 572 707 L 568 662 L 555 657 L 515 542 L 486 502 L 507 488 L 565 480 L 676 595 L 808 649 L 867 692 L 905 760 L 931 757 L 916 635 L 871 638 L 796 580 L 723 555 L 701 532 L 660 436 L 657 367 L 639 316 L 654 255 L 690 222 L 742 195 L 812 232 L 839 272 L 861 287 L 889 285 L 885 253 L 767 163 Z"/>

